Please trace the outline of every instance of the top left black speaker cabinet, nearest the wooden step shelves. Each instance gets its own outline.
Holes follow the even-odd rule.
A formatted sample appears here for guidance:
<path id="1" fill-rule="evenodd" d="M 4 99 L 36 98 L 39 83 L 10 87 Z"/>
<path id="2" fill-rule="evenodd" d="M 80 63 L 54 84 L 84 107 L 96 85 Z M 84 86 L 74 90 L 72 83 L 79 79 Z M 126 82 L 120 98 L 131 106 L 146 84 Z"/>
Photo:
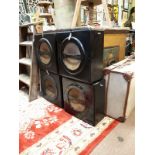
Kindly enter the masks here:
<path id="1" fill-rule="evenodd" d="M 56 50 L 56 34 L 49 31 L 35 35 L 34 50 L 37 62 L 41 70 L 58 73 L 57 50 Z"/>

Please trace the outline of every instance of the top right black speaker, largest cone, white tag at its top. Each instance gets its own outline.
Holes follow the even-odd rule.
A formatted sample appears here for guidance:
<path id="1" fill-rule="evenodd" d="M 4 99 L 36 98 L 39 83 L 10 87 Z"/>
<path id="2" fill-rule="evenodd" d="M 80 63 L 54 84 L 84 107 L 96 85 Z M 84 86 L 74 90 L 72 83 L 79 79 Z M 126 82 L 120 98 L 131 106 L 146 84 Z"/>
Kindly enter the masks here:
<path id="1" fill-rule="evenodd" d="M 57 33 L 59 73 L 93 83 L 103 77 L 104 31 L 90 28 Z"/>

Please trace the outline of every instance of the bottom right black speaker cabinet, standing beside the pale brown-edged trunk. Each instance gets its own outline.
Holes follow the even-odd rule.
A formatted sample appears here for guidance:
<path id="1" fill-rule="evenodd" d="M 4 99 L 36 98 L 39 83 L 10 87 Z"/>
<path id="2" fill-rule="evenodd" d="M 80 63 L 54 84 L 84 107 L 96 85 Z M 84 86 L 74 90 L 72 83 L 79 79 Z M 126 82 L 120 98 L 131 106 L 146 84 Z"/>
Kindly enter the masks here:
<path id="1" fill-rule="evenodd" d="M 65 111 L 96 125 L 104 117 L 104 81 L 86 84 L 62 78 L 62 83 Z"/>

